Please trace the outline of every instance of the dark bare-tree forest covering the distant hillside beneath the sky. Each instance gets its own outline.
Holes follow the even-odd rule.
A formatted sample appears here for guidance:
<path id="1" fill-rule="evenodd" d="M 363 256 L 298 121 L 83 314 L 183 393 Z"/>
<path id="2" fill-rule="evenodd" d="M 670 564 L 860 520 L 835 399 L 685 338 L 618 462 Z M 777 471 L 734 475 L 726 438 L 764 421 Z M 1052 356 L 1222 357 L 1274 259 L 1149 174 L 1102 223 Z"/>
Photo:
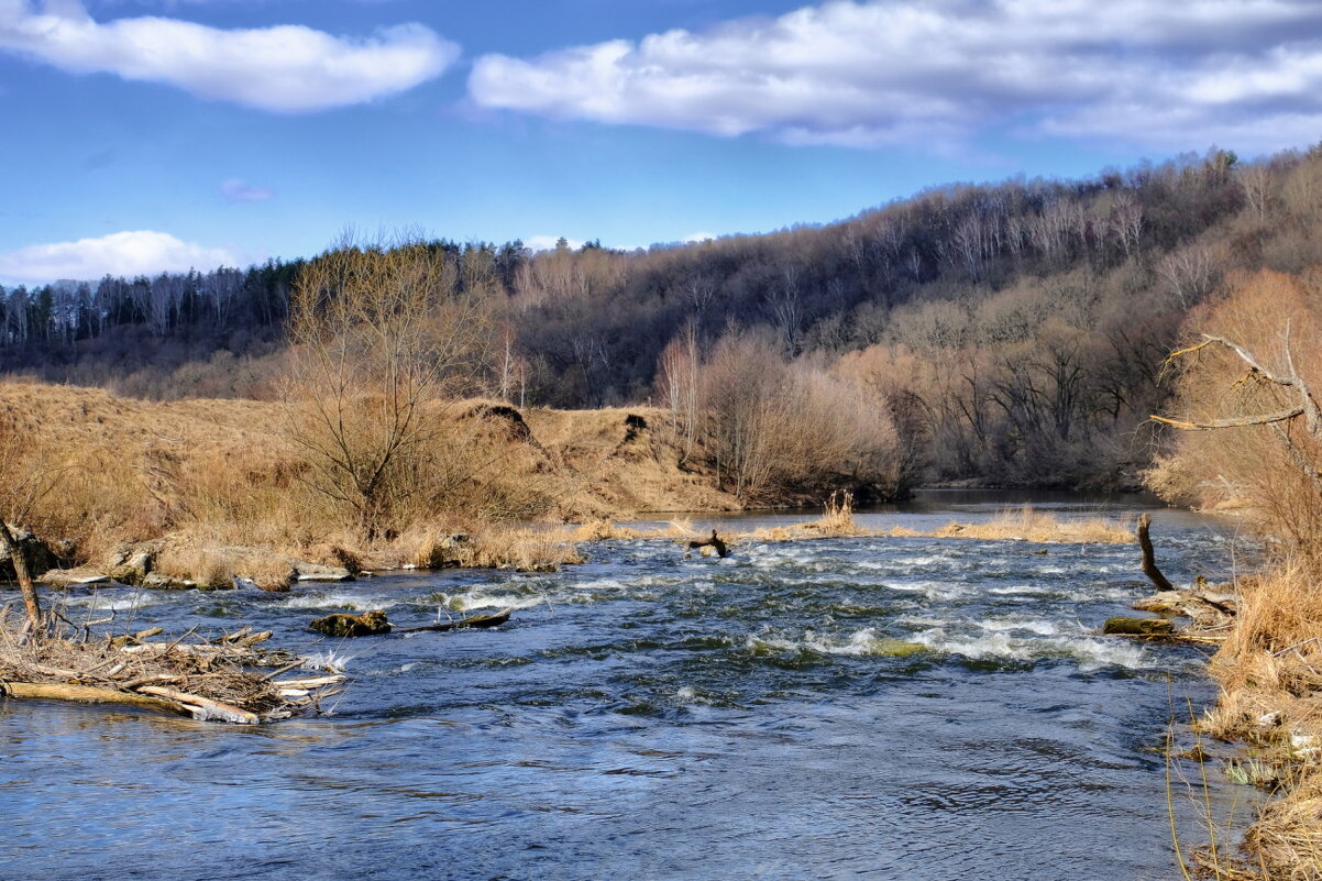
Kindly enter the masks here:
<path id="1" fill-rule="evenodd" d="M 1188 314 L 1239 271 L 1322 266 L 1322 147 L 956 184 L 646 251 L 426 247 L 456 295 L 490 306 L 486 392 L 516 406 L 674 411 L 677 353 L 702 370 L 738 343 L 866 389 L 858 406 L 886 413 L 910 482 L 1118 488 L 1151 462 L 1146 417 Z M 271 398 L 305 266 L 0 287 L 0 373 Z"/>

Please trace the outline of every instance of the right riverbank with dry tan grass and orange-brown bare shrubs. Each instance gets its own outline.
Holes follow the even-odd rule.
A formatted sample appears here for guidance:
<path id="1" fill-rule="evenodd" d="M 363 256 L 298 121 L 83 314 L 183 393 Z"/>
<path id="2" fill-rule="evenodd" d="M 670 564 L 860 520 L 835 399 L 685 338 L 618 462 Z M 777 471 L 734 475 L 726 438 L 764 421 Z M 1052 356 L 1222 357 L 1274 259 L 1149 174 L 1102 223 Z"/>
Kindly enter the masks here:
<path id="1" fill-rule="evenodd" d="M 1203 720 L 1243 739 L 1232 779 L 1273 792 L 1224 878 L 1322 878 L 1322 275 L 1257 273 L 1187 327 L 1167 358 L 1178 431 L 1149 474 L 1171 501 L 1235 507 L 1266 545 L 1261 573 L 1236 579 L 1239 614 L 1211 663 L 1222 687 Z"/>

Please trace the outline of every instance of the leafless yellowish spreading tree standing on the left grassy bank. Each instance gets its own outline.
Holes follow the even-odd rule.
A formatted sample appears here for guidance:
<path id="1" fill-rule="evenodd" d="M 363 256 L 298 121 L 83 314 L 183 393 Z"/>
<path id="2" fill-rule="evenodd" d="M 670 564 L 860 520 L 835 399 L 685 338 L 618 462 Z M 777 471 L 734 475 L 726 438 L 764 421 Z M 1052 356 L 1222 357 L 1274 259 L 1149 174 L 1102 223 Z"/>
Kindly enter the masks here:
<path id="1" fill-rule="evenodd" d="M 369 541 L 426 492 L 419 466 L 444 437 L 444 403 L 486 366 L 485 303 L 456 280 L 426 243 L 344 241 L 293 290 L 290 437 L 308 454 L 311 485 L 346 505 Z"/>

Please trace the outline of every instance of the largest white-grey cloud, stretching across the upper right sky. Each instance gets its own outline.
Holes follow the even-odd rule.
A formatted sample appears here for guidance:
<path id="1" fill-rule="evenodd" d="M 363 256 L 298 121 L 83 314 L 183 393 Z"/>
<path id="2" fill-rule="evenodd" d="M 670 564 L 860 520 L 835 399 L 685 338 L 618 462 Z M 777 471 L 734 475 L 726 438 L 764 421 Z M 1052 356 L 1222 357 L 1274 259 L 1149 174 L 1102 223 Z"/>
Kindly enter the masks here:
<path id="1" fill-rule="evenodd" d="M 1273 148 L 1322 131 L 1322 4 L 837 1 L 530 60 L 484 56 L 469 95 L 792 144 L 941 147 L 1001 128 Z"/>

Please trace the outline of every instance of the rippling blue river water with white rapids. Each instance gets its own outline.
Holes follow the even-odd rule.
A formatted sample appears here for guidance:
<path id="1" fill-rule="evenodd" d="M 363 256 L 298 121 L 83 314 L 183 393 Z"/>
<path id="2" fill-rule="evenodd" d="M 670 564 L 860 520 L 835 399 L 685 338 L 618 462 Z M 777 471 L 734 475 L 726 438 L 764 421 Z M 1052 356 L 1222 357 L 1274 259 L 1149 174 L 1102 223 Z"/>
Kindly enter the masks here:
<path id="1" fill-rule="evenodd" d="M 1002 503 L 859 520 L 935 528 Z M 1227 571 L 1223 525 L 1155 529 L 1174 581 Z M 1134 546 L 583 550 L 555 574 L 71 593 L 70 616 L 122 626 L 271 628 L 353 683 L 330 716 L 255 729 L 0 701 L 0 878 L 1175 877 L 1163 729 L 1214 691 L 1195 648 L 1091 635 L 1150 593 Z M 505 606 L 494 631 L 304 630 Z M 1218 808 L 1232 798 L 1214 784 Z"/>

